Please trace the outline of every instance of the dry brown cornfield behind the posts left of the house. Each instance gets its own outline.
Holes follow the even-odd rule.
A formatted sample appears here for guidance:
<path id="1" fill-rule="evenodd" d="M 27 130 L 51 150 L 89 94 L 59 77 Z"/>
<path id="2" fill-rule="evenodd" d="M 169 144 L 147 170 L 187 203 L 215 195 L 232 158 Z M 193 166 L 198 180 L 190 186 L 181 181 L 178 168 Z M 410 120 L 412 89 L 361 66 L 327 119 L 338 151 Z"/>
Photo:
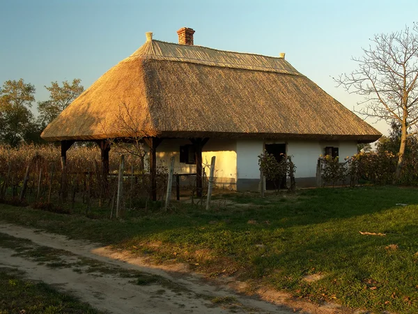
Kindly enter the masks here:
<path id="1" fill-rule="evenodd" d="M 125 155 L 124 207 L 141 206 L 138 203 L 143 204 L 148 197 L 149 184 L 139 156 L 127 154 L 117 147 L 111 149 L 106 184 L 102 175 L 100 149 L 95 145 L 83 144 L 73 145 L 67 151 L 66 191 L 61 184 L 61 147 L 54 144 L 0 147 L 0 200 L 54 204 L 67 202 L 71 209 L 77 208 L 77 204 L 84 204 L 82 207 L 86 207 L 86 214 L 93 203 L 100 207 L 113 207 L 121 154 Z M 161 174 L 157 179 L 157 189 L 162 197 L 167 184 L 167 176 L 164 175 L 167 169 L 160 167 L 157 171 Z"/>

